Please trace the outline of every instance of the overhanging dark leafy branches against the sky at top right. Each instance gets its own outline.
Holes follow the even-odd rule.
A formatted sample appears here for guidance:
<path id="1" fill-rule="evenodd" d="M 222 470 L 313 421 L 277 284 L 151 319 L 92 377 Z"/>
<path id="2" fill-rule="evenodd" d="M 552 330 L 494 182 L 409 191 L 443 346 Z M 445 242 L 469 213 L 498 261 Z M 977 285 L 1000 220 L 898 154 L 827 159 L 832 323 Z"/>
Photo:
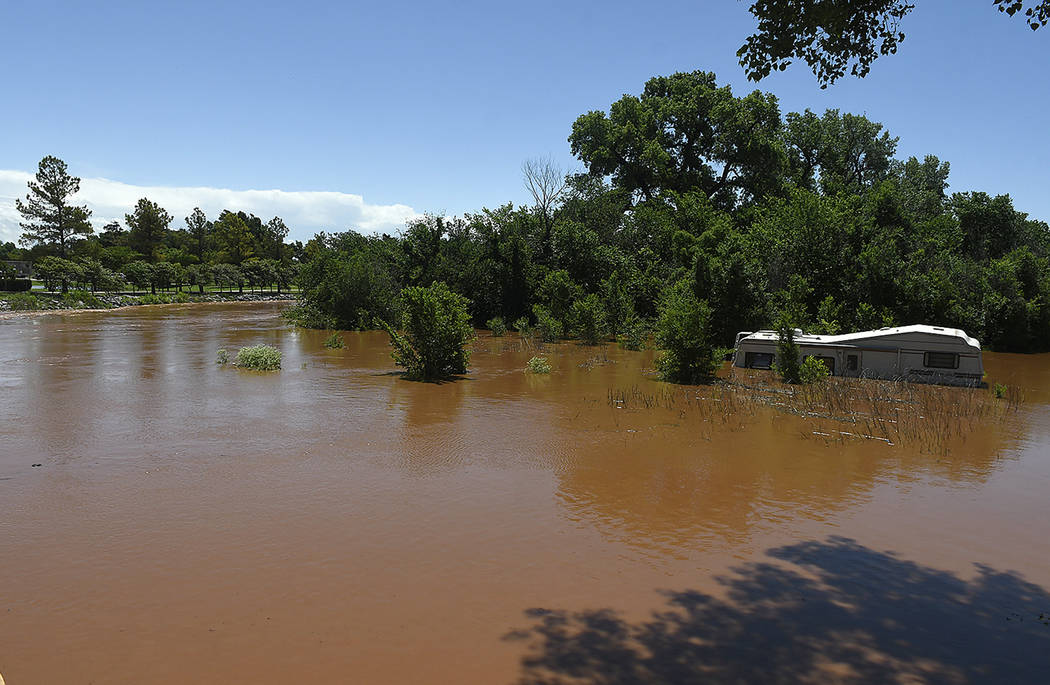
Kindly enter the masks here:
<path id="1" fill-rule="evenodd" d="M 1050 20 L 1050 0 L 993 0 L 1000 12 L 1024 9 L 1035 30 Z M 872 62 L 894 55 L 904 40 L 901 20 L 915 8 L 907 0 L 756 0 L 750 7 L 758 29 L 737 50 L 752 81 L 805 60 L 821 88 L 845 75 L 867 75 Z"/>

